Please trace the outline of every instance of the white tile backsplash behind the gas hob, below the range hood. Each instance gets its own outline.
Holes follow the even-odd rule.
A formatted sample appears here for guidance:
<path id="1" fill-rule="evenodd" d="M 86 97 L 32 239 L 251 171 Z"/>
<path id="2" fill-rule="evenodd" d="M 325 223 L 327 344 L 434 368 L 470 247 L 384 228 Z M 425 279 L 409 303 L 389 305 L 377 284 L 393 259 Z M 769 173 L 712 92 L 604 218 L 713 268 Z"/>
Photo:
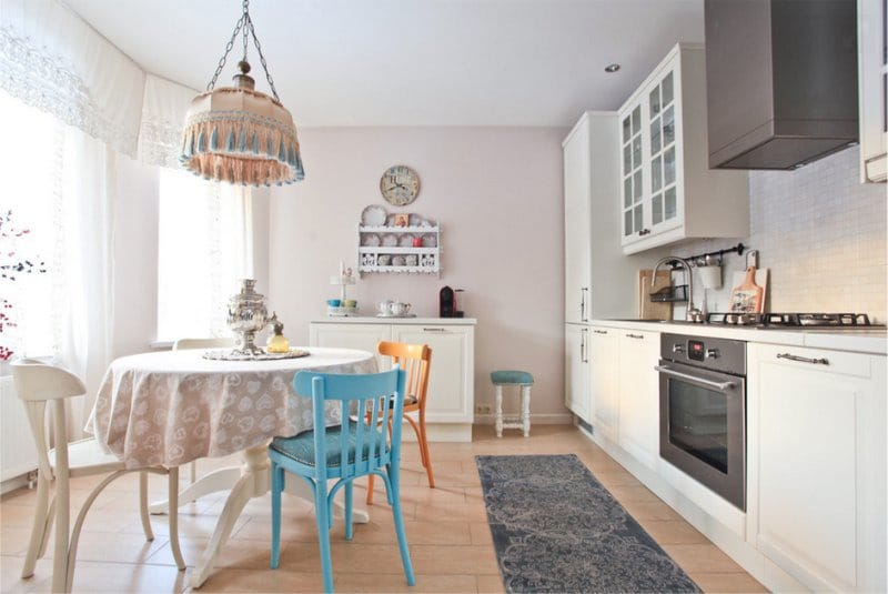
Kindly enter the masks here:
<path id="1" fill-rule="evenodd" d="M 749 172 L 749 231 L 740 240 L 770 270 L 766 311 L 866 313 L 886 322 L 885 184 L 861 184 L 858 148 L 797 171 Z M 731 240 L 682 244 L 676 255 L 730 248 Z M 726 311 L 734 271 L 746 256 L 725 256 L 724 284 L 707 292 L 709 311 Z M 695 274 L 695 302 L 703 299 Z M 698 289 L 700 288 L 700 289 Z"/>

